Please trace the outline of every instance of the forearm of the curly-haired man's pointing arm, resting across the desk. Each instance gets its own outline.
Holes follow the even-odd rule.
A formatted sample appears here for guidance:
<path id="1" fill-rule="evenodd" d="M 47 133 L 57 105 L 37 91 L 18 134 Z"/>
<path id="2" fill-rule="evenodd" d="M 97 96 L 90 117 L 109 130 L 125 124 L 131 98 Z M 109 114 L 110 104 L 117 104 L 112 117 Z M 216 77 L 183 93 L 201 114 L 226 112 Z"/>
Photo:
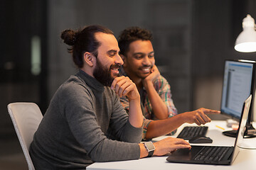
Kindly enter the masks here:
<path id="1" fill-rule="evenodd" d="M 176 130 L 183 123 L 186 123 L 186 120 L 183 118 L 182 114 L 175 115 L 164 120 L 151 121 L 146 130 L 146 139 L 152 139 L 154 137 L 166 135 L 169 132 Z"/>

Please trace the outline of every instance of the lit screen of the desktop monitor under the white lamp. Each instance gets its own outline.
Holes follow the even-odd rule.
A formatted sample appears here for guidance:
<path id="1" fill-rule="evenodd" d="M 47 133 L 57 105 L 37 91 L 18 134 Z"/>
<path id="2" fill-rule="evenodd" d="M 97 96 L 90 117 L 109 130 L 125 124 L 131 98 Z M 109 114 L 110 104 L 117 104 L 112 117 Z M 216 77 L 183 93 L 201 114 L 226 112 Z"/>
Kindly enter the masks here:
<path id="1" fill-rule="evenodd" d="M 254 63 L 225 60 L 220 108 L 222 113 L 240 118 L 243 102 L 252 93 Z"/>

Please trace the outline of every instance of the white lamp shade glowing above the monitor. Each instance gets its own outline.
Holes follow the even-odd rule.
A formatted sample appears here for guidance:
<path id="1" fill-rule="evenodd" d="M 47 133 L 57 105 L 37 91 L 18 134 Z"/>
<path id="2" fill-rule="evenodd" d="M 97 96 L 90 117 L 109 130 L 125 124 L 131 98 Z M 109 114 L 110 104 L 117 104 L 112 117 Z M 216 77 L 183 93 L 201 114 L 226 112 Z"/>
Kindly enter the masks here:
<path id="1" fill-rule="evenodd" d="M 256 52 L 255 20 L 248 14 L 242 20 L 242 33 L 235 41 L 235 50 L 238 52 Z"/>

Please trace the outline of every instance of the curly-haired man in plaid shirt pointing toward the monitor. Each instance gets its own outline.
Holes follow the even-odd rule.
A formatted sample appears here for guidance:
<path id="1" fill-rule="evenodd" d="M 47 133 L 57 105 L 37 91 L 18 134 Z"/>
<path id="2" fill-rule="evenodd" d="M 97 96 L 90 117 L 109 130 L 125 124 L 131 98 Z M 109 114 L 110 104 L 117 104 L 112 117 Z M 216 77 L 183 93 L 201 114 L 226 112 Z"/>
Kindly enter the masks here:
<path id="1" fill-rule="evenodd" d="M 174 134 L 173 130 L 183 123 L 204 125 L 210 122 L 206 113 L 220 113 L 200 108 L 196 111 L 177 114 L 171 98 L 171 87 L 156 67 L 152 39 L 153 36 L 149 30 L 139 27 L 123 30 L 118 38 L 120 56 L 124 61 L 120 73 L 132 79 L 141 97 L 144 140 L 170 132 Z M 128 98 L 124 96 L 120 101 L 129 111 Z"/>

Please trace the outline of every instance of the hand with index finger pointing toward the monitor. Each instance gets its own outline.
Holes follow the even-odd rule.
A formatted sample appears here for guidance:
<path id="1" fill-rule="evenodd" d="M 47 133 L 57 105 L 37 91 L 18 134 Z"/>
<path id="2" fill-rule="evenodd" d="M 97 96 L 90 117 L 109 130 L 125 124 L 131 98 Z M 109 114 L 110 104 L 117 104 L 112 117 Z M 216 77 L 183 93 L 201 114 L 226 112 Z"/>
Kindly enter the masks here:
<path id="1" fill-rule="evenodd" d="M 206 114 L 214 113 L 218 114 L 220 111 L 210 110 L 208 108 L 199 108 L 196 111 L 181 113 L 182 118 L 186 121 L 186 123 L 196 123 L 196 125 L 205 125 L 210 122 L 210 118 Z"/>

